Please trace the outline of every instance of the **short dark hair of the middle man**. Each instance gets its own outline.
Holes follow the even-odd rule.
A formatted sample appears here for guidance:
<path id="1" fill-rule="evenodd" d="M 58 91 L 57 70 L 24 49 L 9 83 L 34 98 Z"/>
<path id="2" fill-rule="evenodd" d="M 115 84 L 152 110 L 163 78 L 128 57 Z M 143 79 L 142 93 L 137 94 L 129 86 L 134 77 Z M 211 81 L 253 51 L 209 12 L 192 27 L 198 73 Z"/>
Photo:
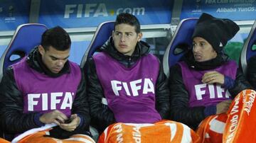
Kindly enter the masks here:
<path id="1" fill-rule="evenodd" d="M 116 21 L 114 22 L 114 30 L 115 26 L 119 24 L 128 24 L 135 27 L 136 33 L 140 33 L 140 23 L 139 20 L 130 13 L 119 13 Z"/>

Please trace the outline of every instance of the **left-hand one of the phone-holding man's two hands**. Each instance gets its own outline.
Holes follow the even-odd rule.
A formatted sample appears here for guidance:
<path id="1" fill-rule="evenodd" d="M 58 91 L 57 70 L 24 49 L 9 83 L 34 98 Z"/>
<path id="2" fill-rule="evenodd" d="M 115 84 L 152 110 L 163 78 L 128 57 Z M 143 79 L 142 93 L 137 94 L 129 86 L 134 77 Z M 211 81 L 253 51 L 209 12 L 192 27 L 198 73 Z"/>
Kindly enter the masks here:
<path id="1" fill-rule="evenodd" d="M 60 125 L 61 123 L 65 122 L 65 120 L 68 120 L 67 116 L 63 113 L 61 113 L 59 110 L 53 110 L 50 113 L 43 114 L 39 120 L 45 124 L 55 123 L 57 125 Z"/>

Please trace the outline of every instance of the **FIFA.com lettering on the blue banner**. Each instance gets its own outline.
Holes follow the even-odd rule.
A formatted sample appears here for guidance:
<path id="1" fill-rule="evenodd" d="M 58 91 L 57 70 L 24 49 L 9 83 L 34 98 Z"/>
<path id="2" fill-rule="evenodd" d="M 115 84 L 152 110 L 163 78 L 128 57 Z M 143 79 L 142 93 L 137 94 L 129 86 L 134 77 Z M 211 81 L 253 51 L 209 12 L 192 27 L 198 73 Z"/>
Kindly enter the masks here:
<path id="1" fill-rule="evenodd" d="M 108 12 L 109 11 L 109 12 Z M 71 15 L 76 15 L 77 18 L 82 17 L 98 17 L 98 16 L 114 16 L 119 13 L 131 13 L 133 15 L 144 15 L 144 7 L 134 8 L 117 8 L 107 9 L 106 4 L 68 4 L 65 5 L 64 18 L 70 18 Z"/>

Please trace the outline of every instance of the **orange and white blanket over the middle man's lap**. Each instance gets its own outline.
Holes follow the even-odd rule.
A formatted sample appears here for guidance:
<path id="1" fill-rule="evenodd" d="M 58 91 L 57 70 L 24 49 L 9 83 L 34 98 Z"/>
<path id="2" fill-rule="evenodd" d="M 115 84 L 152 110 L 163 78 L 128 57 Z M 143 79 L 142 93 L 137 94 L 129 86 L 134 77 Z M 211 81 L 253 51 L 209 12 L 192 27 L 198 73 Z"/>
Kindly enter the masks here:
<path id="1" fill-rule="evenodd" d="M 103 142 L 198 142 L 196 132 L 186 125 L 170 120 L 161 120 L 154 124 L 114 123 L 100 135 Z"/>

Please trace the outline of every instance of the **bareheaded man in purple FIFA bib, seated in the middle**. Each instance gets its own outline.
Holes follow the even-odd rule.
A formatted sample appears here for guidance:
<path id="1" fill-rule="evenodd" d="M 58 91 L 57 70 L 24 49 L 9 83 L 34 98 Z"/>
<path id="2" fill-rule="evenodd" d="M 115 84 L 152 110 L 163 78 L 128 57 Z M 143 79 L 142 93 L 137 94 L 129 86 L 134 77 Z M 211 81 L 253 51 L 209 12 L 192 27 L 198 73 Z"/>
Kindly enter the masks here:
<path id="1" fill-rule="evenodd" d="M 159 59 L 141 41 L 137 18 L 120 13 L 112 37 L 85 64 L 92 126 L 169 118 L 169 88 Z"/>

